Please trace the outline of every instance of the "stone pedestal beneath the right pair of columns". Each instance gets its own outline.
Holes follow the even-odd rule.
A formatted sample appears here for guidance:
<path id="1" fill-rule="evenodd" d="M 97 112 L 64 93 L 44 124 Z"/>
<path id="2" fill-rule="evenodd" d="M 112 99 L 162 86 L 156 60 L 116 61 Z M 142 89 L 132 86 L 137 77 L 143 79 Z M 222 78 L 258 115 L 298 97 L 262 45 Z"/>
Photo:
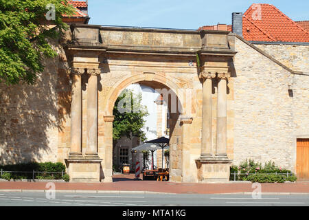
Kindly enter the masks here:
<path id="1" fill-rule="evenodd" d="M 230 159 L 214 157 L 212 159 L 196 159 L 198 168 L 198 182 L 226 183 L 229 182 Z"/>

